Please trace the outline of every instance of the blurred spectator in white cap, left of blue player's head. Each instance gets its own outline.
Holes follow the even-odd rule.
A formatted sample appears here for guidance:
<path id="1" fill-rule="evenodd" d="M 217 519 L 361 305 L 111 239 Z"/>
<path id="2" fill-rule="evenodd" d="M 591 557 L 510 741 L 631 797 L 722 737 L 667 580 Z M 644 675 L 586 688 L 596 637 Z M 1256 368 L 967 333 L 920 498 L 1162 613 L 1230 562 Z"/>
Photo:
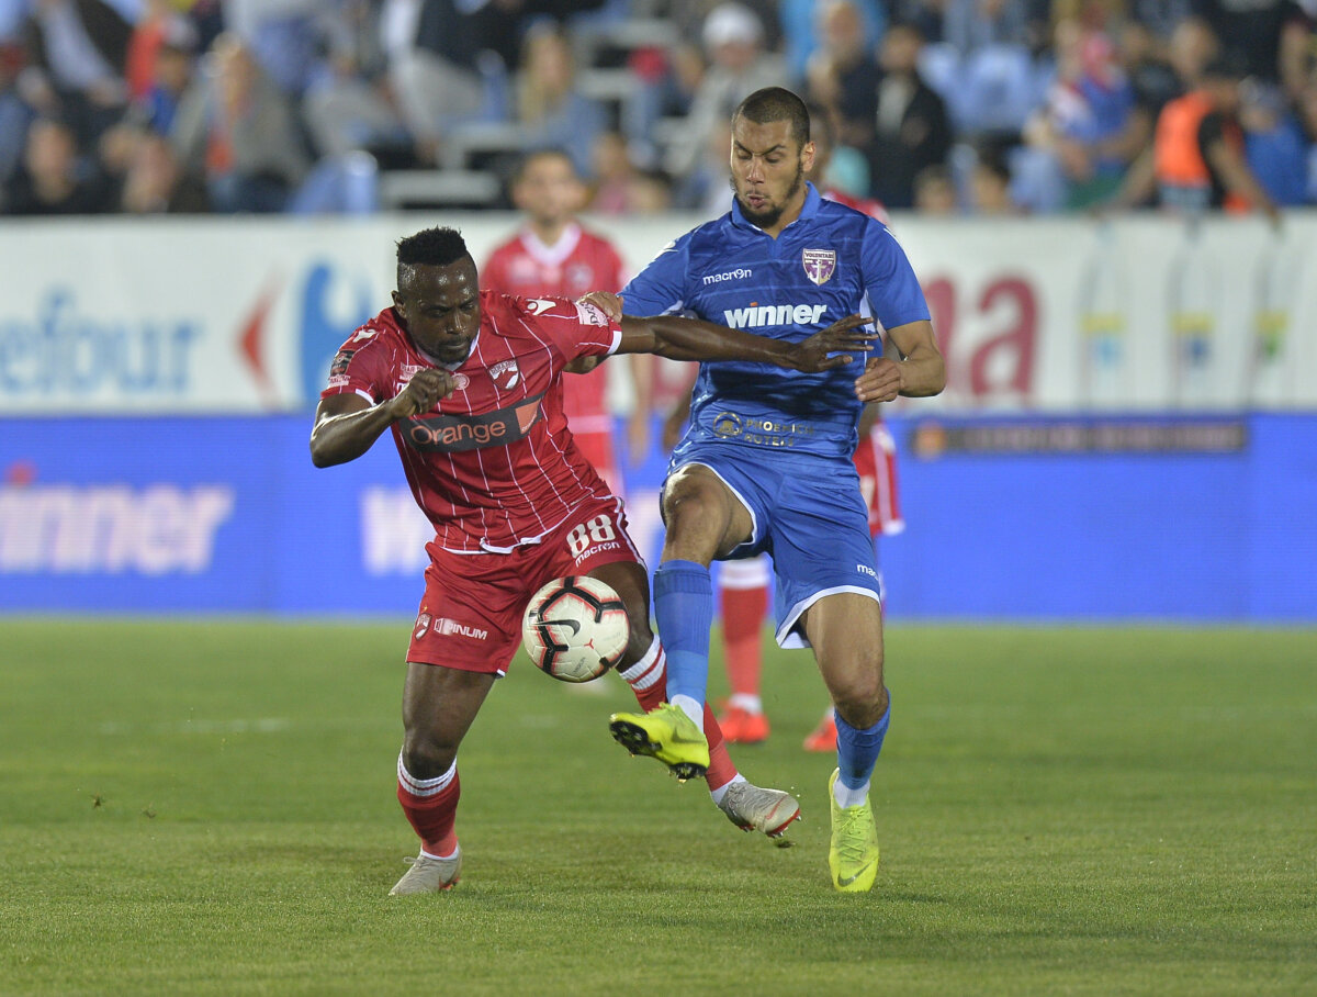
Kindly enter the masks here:
<path id="1" fill-rule="evenodd" d="M 678 178 L 680 205 L 686 208 L 714 195 L 719 204 L 726 202 L 732 112 L 756 90 L 778 86 L 784 78 L 781 59 L 764 50 L 763 24 L 743 4 L 715 7 L 705 18 L 702 38 L 710 67 L 668 161 L 668 171 Z"/>

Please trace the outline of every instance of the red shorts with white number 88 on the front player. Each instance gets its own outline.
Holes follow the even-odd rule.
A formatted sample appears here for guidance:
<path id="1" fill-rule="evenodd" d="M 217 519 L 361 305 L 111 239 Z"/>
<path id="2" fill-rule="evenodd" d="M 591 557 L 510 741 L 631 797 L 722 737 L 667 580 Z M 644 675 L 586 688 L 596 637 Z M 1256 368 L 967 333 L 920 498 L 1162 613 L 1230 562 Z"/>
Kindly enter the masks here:
<path id="1" fill-rule="evenodd" d="M 616 561 L 644 564 L 619 498 L 581 503 L 543 541 L 511 553 L 427 549 L 425 595 L 407 660 L 498 676 L 522 645 L 522 615 L 541 586 Z"/>

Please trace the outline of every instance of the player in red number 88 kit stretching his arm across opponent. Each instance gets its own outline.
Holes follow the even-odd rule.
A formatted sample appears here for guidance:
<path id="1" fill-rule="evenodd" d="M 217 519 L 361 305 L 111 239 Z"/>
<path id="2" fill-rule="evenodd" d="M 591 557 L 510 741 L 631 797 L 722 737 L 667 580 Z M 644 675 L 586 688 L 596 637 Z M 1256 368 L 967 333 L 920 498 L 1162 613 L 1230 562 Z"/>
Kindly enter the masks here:
<path id="1" fill-rule="evenodd" d="M 665 694 L 648 576 L 622 500 L 582 456 L 562 414 L 566 365 L 649 352 L 830 370 L 849 361 L 830 353 L 864 350 L 874 338 L 859 316 L 797 344 L 676 317 L 612 320 L 589 300 L 508 298 L 481 292 L 478 279 L 454 229 L 402 240 L 394 304 L 335 357 L 311 433 L 312 461 L 324 468 L 356 460 L 390 431 L 435 525 L 398 757 L 398 798 L 421 851 L 392 894 L 457 882 L 457 749 L 512 660 L 522 614 L 540 586 L 566 574 L 611 585 L 631 620 L 618 669 L 643 709 Z M 620 315 L 611 295 L 598 300 Z M 706 730 L 714 802 L 739 827 L 780 835 L 799 815 L 795 801 L 736 773 L 711 714 Z"/>

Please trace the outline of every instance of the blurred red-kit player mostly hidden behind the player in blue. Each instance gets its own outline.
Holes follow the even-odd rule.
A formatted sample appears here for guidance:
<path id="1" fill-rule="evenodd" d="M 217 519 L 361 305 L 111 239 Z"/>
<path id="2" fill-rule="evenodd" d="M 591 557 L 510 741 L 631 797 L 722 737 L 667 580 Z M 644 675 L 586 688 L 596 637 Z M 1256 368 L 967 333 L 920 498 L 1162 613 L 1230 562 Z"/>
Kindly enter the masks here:
<path id="1" fill-rule="evenodd" d="M 819 192 L 828 200 L 846 204 L 877 219 L 884 225 L 888 212 L 881 202 L 871 198 L 852 198 L 828 184 L 828 166 L 832 163 L 836 122 L 818 105 L 810 107 L 810 137 L 814 141 L 814 166 L 806 173 Z M 689 395 L 673 410 L 664 429 L 665 444 L 680 437 L 681 423 L 689 412 Z M 871 404 L 860 416 L 860 444 L 855 450 L 855 469 L 860 474 L 860 489 L 869 506 L 869 532 L 874 540 L 882 535 L 905 529 L 897 502 L 896 443 L 882 423 L 877 404 Z M 757 744 L 768 739 L 772 730 L 764 714 L 761 697 L 761 670 L 764 645 L 764 618 L 768 614 L 769 586 L 768 556 L 744 561 L 724 561 L 719 566 L 718 585 L 723 618 L 723 657 L 727 662 L 727 682 L 731 697 L 718 723 L 732 744 Z M 806 751 L 836 751 L 836 720 L 832 707 L 806 738 Z"/>

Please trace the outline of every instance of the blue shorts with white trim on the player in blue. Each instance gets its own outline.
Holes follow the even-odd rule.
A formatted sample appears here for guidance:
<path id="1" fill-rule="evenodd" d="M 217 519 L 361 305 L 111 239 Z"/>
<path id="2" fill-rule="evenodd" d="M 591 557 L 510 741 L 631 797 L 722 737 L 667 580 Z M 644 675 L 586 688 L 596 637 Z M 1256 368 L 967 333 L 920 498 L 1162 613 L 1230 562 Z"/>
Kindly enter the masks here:
<path id="1" fill-rule="evenodd" d="M 727 560 L 773 558 L 777 643 L 809 647 L 801 615 L 824 595 L 851 591 L 882 602 L 869 510 L 848 457 L 768 453 L 724 443 L 684 448 L 681 464 L 709 468 L 751 515 L 751 539 Z"/>

